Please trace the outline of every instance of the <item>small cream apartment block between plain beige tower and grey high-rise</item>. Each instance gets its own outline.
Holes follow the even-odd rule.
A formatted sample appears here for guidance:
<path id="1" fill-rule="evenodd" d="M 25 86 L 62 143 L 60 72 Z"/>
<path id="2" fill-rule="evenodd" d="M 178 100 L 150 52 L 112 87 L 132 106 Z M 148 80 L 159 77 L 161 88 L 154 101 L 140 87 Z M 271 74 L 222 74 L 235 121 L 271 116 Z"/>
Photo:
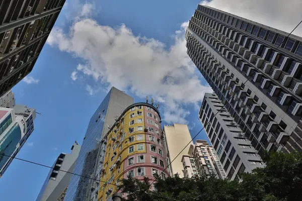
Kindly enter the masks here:
<path id="1" fill-rule="evenodd" d="M 216 152 L 206 140 L 196 140 L 195 145 L 190 145 L 188 154 L 182 156 L 181 162 L 184 177 L 214 174 L 217 178 L 226 178 Z"/>

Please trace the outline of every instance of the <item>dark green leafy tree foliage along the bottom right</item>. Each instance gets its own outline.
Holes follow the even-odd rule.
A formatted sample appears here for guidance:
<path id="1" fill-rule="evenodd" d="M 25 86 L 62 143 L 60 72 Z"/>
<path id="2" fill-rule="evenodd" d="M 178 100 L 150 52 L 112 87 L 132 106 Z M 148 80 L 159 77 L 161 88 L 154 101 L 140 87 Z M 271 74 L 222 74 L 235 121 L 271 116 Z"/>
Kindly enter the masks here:
<path id="1" fill-rule="evenodd" d="M 156 176 L 153 191 L 150 180 L 128 177 L 119 186 L 127 201 L 290 201 L 302 200 L 302 153 L 266 154 L 266 166 L 240 175 L 241 181 L 217 179 L 213 175 L 193 178 Z"/>

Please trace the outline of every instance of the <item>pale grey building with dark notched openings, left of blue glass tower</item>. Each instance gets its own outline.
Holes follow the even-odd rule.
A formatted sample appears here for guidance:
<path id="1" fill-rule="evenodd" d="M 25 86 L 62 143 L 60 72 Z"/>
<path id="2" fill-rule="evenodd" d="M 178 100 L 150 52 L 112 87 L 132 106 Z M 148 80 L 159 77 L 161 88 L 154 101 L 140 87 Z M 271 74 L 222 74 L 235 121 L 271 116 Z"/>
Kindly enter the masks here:
<path id="1" fill-rule="evenodd" d="M 68 187 L 75 161 L 81 146 L 76 142 L 71 147 L 71 153 L 60 153 L 50 169 L 36 201 L 63 201 Z M 63 171 L 62 171 L 63 170 Z"/>

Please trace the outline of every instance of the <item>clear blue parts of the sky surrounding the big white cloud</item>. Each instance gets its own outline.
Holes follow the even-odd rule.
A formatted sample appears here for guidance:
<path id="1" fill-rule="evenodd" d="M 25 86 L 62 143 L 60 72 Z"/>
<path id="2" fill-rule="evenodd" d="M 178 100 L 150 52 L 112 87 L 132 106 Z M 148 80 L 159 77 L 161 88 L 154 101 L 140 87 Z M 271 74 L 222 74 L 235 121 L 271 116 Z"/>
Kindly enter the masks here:
<path id="1" fill-rule="evenodd" d="M 78 1 L 77 5 L 73 6 L 70 2 L 67 1 L 55 25 L 65 33 L 68 34 L 75 21 L 86 18 L 94 19 L 99 25 L 114 29 L 124 24 L 131 29 L 134 37 L 144 36 L 148 40 L 158 40 L 165 45 L 164 50 L 169 50 L 175 44 L 176 31 L 181 29 L 182 23 L 190 19 L 199 3 L 183 0 L 154 1 L 152 4 L 136 0 L 102 1 L 92 4 L 91 13 L 83 14 L 85 2 Z M 74 21 L 81 13 L 84 15 L 83 18 Z M 46 44 L 27 82 L 21 81 L 13 88 L 17 104 L 26 104 L 41 113 L 35 119 L 33 134 L 17 157 L 51 166 L 60 152 L 70 153 L 74 140 L 82 143 L 90 117 L 112 84 L 86 76 L 80 71 L 77 73 L 77 80 L 72 80 L 71 73 L 79 64 L 85 65 L 87 61 L 74 52 L 60 51 L 56 45 Z M 200 78 L 198 75 L 198 79 Z M 90 91 L 88 84 L 91 86 Z M 145 94 L 139 91 L 139 87 L 133 89 L 131 85 L 127 85 L 122 89 L 133 96 L 135 102 L 144 101 Z M 153 90 L 150 90 L 148 95 L 154 97 L 156 101 L 158 96 L 165 98 L 162 94 L 152 93 Z M 195 102 L 195 99 L 193 100 Z M 181 119 L 185 117 L 192 135 L 202 128 L 198 120 L 198 109 L 192 104 L 193 100 L 187 104 L 178 99 L 174 104 L 176 109 L 184 111 L 177 115 L 180 115 Z M 162 116 L 165 116 L 164 111 L 167 110 L 165 105 L 161 103 Z M 206 135 L 202 133 L 198 138 L 205 139 Z M 48 171 L 49 169 L 45 167 L 14 160 L 0 179 L 2 200 L 35 200 Z"/>

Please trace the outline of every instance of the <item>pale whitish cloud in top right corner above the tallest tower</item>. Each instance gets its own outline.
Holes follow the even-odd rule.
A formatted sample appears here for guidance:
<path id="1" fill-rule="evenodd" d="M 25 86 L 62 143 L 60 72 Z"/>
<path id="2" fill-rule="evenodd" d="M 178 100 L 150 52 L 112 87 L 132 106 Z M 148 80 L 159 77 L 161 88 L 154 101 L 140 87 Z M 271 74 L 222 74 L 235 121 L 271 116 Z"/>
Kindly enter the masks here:
<path id="1" fill-rule="evenodd" d="M 302 20 L 301 0 L 212 0 L 210 2 L 203 1 L 201 4 L 238 15 L 288 33 L 291 32 Z M 298 36 L 302 36 L 301 33 L 302 25 L 293 32 L 293 34 Z"/>

